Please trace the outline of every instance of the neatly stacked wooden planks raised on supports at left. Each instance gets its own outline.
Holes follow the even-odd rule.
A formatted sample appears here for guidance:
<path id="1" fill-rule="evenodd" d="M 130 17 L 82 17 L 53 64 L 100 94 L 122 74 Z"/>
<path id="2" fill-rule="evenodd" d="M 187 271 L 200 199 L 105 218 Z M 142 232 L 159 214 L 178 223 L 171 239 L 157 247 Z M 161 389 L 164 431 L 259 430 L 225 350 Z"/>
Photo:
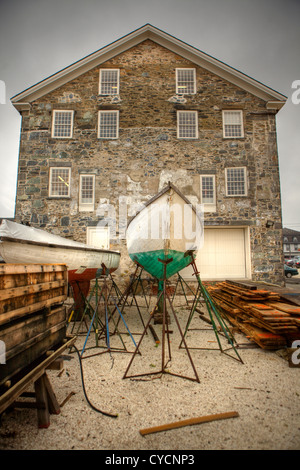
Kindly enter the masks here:
<path id="1" fill-rule="evenodd" d="M 67 276 L 61 264 L 0 265 L 0 394 L 65 340 Z"/>

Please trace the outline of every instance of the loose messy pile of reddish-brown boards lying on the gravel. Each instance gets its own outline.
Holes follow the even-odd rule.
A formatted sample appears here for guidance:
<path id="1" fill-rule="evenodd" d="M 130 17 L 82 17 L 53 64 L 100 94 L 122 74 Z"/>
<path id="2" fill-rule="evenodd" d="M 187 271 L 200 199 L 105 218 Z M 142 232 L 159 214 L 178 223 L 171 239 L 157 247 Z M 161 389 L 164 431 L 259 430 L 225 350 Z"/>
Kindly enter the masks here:
<path id="1" fill-rule="evenodd" d="M 300 307 L 280 294 L 234 281 L 206 286 L 221 313 L 264 349 L 285 347 L 300 339 Z"/>

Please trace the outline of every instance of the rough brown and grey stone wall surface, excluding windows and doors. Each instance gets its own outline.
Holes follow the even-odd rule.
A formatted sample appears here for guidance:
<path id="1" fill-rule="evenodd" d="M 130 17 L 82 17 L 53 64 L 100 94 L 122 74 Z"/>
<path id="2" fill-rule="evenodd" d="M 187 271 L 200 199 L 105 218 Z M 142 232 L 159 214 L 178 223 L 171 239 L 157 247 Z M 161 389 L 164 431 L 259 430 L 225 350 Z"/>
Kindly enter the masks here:
<path id="1" fill-rule="evenodd" d="M 195 67 L 197 93 L 177 96 L 175 68 Z M 86 241 L 86 227 L 103 217 L 101 207 L 117 208 L 120 196 L 142 203 L 171 180 L 199 201 L 200 174 L 216 175 L 216 212 L 207 225 L 250 226 L 254 280 L 283 281 L 281 202 L 275 115 L 265 102 L 147 40 L 101 65 L 120 69 L 120 94 L 98 96 L 99 68 L 32 103 L 23 112 L 16 220 Z M 53 139 L 53 109 L 75 110 L 72 139 Z M 97 138 L 98 110 L 119 110 L 119 138 Z M 242 139 L 224 139 L 222 109 L 242 109 Z M 197 140 L 177 139 L 177 110 L 197 110 Z M 49 198 L 49 168 L 71 166 L 71 197 Z M 245 166 L 247 197 L 226 197 L 225 168 Z M 80 212 L 80 172 L 96 175 L 93 212 Z M 131 209 L 133 210 L 133 208 Z M 129 214 L 129 215 L 133 215 Z M 266 227 L 267 220 L 274 222 Z M 120 271 L 130 271 L 124 241 Z"/>

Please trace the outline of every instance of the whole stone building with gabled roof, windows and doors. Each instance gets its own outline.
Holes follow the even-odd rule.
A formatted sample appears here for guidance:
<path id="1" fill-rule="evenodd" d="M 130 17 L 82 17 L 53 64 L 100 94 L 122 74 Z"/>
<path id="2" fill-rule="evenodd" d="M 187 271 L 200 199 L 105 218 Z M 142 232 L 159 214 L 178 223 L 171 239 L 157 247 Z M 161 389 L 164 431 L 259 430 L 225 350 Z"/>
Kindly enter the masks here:
<path id="1" fill-rule="evenodd" d="M 120 250 L 124 275 L 126 220 L 171 181 L 204 207 L 202 279 L 282 283 L 285 101 L 147 24 L 12 98 L 22 115 L 15 219 Z"/>

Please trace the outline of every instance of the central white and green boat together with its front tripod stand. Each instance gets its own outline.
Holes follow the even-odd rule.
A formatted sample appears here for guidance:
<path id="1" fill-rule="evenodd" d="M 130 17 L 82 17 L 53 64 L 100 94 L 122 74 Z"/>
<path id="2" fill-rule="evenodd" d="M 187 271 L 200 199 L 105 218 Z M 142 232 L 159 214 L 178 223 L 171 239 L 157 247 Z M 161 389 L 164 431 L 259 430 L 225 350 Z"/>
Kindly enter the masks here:
<path id="1" fill-rule="evenodd" d="M 202 211 L 198 207 L 195 208 L 171 182 L 156 196 L 147 201 L 129 221 L 126 232 L 128 254 L 133 262 L 141 266 L 157 280 L 158 294 L 156 305 L 149 316 L 139 344 L 131 357 L 124 378 L 137 377 L 137 375 L 129 376 L 128 371 L 156 312 L 161 317 L 158 322 L 162 323 L 161 369 L 154 373 L 162 374 L 167 372 L 172 374 L 168 366 L 171 360 L 169 329 L 166 326 L 169 323 L 168 300 L 169 312 L 175 318 L 181 340 L 194 371 L 195 378 L 192 380 L 199 382 L 197 370 L 187 347 L 166 284 L 170 277 L 194 262 L 197 251 L 202 246 L 202 241 Z M 168 344 L 168 347 L 166 347 L 166 344 Z M 153 372 L 149 372 L 141 375 L 152 374 Z M 173 375 L 180 376 L 179 374 Z"/>

